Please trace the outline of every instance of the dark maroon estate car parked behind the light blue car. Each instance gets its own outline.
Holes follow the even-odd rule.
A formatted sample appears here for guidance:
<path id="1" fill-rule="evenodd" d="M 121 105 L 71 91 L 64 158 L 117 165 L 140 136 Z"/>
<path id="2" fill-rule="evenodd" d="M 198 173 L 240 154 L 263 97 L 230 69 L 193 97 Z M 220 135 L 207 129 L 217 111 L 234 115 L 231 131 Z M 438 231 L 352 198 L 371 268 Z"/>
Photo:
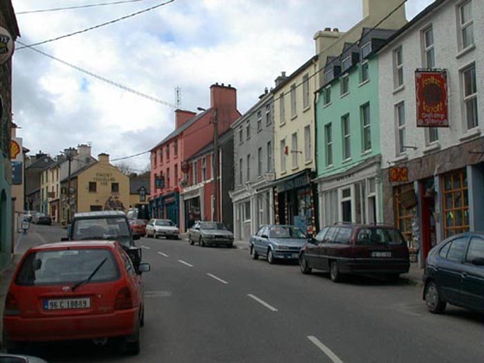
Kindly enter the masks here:
<path id="1" fill-rule="evenodd" d="M 339 223 L 324 227 L 299 254 L 301 272 L 313 268 L 330 273 L 338 282 L 343 274 L 378 274 L 398 279 L 409 272 L 409 250 L 402 234 L 391 225 Z"/>

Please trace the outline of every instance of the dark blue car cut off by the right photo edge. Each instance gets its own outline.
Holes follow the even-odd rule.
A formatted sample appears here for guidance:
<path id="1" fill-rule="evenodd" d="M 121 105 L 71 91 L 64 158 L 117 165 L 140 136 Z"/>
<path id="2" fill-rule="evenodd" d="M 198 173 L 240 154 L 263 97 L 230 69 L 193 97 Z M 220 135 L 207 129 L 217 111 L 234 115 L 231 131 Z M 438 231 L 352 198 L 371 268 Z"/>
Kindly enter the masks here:
<path id="1" fill-rule="evenodd" d="M 484 313 L 484 232 L 456 234 L 432 248 L 423 274 L 431 313 L 447 303 Z"/>

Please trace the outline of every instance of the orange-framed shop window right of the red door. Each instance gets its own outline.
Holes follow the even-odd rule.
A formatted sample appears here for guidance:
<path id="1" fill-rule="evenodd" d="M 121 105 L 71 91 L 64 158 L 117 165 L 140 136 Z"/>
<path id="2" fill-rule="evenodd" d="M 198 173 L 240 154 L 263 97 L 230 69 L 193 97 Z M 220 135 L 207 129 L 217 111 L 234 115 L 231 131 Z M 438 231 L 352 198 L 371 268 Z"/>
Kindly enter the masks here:
<path id="1" fill-rule="evenodd" d="M 444 237 L 469 230 L 469 197 L 465 169 L 443 176 Z"/>

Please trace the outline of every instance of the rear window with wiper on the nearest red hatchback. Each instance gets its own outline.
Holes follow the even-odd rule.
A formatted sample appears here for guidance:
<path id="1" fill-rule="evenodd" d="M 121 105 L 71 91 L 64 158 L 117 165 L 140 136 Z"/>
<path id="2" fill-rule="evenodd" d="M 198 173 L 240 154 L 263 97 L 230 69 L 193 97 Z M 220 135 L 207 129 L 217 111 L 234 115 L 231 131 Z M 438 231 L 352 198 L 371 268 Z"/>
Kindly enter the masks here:
<path id="1" fill-rule="evenodd" d="M 87 279 L 101 263 L 91 283 L 120 278 L 118 263 L 111 250 L 96 248 L 32 252 L 24 259 L 15 283 L 23 286 L 77 283 Z"/>

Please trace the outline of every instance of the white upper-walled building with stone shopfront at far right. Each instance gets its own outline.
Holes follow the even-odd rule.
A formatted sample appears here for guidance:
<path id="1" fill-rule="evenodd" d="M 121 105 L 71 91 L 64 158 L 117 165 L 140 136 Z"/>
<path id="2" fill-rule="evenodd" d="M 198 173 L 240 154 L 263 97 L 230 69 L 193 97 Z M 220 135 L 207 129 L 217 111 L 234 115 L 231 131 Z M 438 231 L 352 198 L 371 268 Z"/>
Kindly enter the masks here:
<path id="1" fill-rule="evenodd" d="M 379 52 L 384 221 L 400 228 L 421 266 L 437 241 L 484 230 L 483 27 L 481 1 L 439 0 Z M 448 127 L 417 127 L 422 68 L 445 75 Z"/>

